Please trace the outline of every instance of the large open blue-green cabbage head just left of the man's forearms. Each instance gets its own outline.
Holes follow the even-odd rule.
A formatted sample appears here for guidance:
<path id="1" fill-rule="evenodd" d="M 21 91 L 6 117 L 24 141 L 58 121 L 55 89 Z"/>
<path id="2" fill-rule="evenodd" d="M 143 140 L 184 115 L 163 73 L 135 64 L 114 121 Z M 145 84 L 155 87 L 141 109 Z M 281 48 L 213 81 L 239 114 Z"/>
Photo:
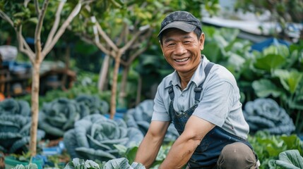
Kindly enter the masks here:
<path id="1" fill-rule="evenodd" d="M 64 134 L 64 145 L 71 158 L 108 161 L 119 157 L 114 145 L 129 147 L 142 139 L 140 130 L 127 127 L 124 120 L 92 114 L 78 120 L 74 128 Z"/>

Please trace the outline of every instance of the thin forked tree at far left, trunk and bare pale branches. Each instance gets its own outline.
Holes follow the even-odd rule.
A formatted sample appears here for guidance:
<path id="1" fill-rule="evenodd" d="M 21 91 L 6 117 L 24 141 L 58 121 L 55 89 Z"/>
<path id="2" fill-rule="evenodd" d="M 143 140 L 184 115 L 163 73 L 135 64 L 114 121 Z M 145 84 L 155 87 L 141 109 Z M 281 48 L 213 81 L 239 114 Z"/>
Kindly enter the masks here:
<path id="1" fill-rule="evenodd" d="M 69 26 L 73 18 L 81 11 L 81 7 L 85 4 L 88 4 L 90 1 L 80 0 L 78 4 L 72 6 L 72 10 L 69 13 L 67 18 L 64 18 L 62 21 L 61 13 L 66 5 L 65 0 L 59 1 L 57 6 L 57 11 L 54 18 L 54 23 L 52 23 L 52 28 L 47 36 L 46 42 L 42 42 L 41 34 L 44 24 L 45 13 L 47 12 L 47 7 L 49 5 L 49 0 L 44 0 L 42 6 L 40 1 L 35 0 L 35 14 L 37 18 L 37 24 L 35 26 L 35 51 L 30 49 L 28 42 L 25 41 L 23 37 L 23 24 L 24 22 L 16 23 L 13 15 L 8 15 L 10 11 L 2 11 L 0 9 L 0 16 L 6 20 L 16 31 L 17 40 L 18 40 L 18 49 L 20 52 L 28 56 L 30 62 L 32 63 L 32 90 L 31 90 L 31 112 L 32 112 L 32 124 L 30 128 L 30 154 L 31 156 L 36 155 L 37 147 L 37 126 L 38 126 L 38 113 L 39 113 L 39 89 L 40 89 L 40 65 L 44 60 L 45 56 L 49 54 L 58 42 L 61 35 L 64 34 L 66 27 Z M 25 0 L 23 3 L 24 8 L 28 8 L 30 1 Z M 18 13 L 18 11 L 16 11 Z M 16 15 L 16 13 L 13 13 Z M 25 15 L 25 14 L 24 14 Z M 22 21 L 22 20 L 21 20 Z M 63 22 L 63 23 L 61 23 Z M 49 23 L 47 23 L 49 24 Z M 42 48 L 42 43 L 44 44 Z"/>

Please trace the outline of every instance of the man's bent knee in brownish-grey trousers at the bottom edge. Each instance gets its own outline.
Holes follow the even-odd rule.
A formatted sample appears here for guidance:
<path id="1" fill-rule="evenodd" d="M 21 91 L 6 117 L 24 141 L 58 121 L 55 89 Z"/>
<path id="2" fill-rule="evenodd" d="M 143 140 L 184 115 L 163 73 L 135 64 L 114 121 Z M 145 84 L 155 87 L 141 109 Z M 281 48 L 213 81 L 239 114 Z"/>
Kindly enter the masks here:
<path id="1" fill-rule="evenodd" d="M 254 152 L 241 142 L 225 146 L 218 159 L 218 168 L 258 168 Z"/>

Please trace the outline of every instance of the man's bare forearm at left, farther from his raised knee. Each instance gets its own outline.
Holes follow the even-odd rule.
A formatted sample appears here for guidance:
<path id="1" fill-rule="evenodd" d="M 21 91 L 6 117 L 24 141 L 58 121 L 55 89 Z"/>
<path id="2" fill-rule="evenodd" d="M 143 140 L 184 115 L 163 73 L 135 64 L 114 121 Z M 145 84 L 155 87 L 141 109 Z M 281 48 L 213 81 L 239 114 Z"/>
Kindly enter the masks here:
<path id="1" fill-rule="evenodd" d="M 136 154 L 135 161 L 137 163 L 142 163 L 145 168 L 150 168 L 158 155 L 169 125 L 169 121 L 152 121 L 150 123 L 148 133 L 145 135 Z"/>

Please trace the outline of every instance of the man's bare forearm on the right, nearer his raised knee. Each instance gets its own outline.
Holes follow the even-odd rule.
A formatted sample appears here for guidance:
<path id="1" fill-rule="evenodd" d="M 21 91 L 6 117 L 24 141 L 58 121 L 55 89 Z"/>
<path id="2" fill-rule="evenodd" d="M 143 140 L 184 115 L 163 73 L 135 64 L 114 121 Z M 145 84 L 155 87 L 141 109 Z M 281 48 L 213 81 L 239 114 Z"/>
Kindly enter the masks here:
<path id="1" fill-rule="evenodd" d="M 213 127 L 215 125 L 212 123 L 191 115 L 191 118 L 186 123 L 184 132 L 174 142 L 160 168 L 182 168 L 189 161 L 203 137 Z"/>

